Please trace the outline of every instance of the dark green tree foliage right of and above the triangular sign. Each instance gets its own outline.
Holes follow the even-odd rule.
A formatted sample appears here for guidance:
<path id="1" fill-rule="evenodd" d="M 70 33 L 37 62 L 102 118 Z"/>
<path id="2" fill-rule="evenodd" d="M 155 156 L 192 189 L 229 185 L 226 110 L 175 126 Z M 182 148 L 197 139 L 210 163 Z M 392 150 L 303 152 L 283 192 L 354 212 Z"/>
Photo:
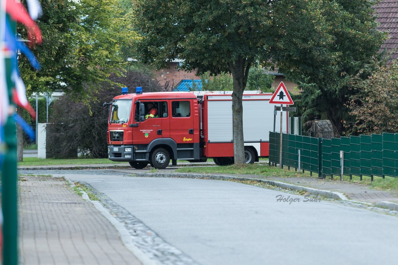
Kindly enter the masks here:
<path id="1" fill-rule="evenodd" d="M 342 120 L 349 119 L 344 104 L 355 93 L 348 89 L 350 79 L 360 71 L 366 77 L 375 68 L 373 56 L 386 39 L 386 33 L 376 30 L 372 6 L 377 1 L 283 2 L 302 11 L 277 5 L 287 11 L 278 21 L 280 31 L 289 34 L 279 35 L 273 59 L 279 72 L 302 89 L 295 106 L 304 121 L 328 119 L 341 133 Z"/>

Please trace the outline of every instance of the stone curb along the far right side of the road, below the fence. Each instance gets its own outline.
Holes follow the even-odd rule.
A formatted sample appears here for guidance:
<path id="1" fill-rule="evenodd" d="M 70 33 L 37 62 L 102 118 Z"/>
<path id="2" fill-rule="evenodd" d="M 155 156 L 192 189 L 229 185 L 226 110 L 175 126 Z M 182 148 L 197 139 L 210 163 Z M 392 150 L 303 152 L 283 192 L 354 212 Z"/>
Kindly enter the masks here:
<path id="1" fill-rule="evenodd" d="M 285 182 L 273 181 L 273 180 L 262 180 L 258 178 L 248 178 L 248 177 L 235 177 L 235 176 L 225 176 L 225 175 L 203 175 L 203 174 L 189 174 L 189 173 L 137 173 L 137 177 L 156 177 L 156 178 L 199 178 L 199 179 L 211 179 L 211 180 L 256 180 L 258 182 L 266 183 L 271 186 L 291 189 L 296 191 L 306 191 L 312 195 L 320 195 L 331 199 L 341 199 L 343 201 L 351 201 L 354 203 L 363 203 L 372 206 L 371 203 L 365 201 L 354 201 L 350 200 L 341 192 L 330 191 L 330 190 L 318 190 L 314 188 L 308 188 L 303 186 L 297 186 L 293 184 L 288 184 Z M 398 211 L 398 204 L 392 203 L 390 201 L 382 201 L 375 204 L 376 207 L 385 208 L 389 210 Z"/>

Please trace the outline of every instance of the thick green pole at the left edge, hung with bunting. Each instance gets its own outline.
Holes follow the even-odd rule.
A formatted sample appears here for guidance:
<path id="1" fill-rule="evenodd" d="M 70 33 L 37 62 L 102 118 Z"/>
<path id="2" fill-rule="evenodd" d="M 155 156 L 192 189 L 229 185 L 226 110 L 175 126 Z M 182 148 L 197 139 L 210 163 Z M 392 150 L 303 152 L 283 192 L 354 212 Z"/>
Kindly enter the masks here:
<path id="1" fill-rule="evenodd" d="M 16 33 L 16 22 L 7 15 L 13 34 Z M 11 66 L 16 58 L 5 57 L 6 80 L 10 100 L 9 116 L 4 124 L 4 144 L 6 153 L 3 156 L 1 168 L 2 184 L 2 211 L 3 211 L 3 264 L 18 264 L 18 204 L 17 204 L 17 128 L 11 117 L 15 113 L 15 104 L 12 103 Z"/>

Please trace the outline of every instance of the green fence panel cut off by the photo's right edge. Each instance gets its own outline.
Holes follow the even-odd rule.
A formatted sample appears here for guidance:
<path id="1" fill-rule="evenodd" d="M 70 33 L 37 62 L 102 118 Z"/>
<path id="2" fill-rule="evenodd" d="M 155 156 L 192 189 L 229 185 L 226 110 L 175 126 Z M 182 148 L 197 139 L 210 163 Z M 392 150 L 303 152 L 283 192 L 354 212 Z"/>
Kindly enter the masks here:
<path id="1" fill-rule="evenodd" d="M 394 133 L 383 133 L 383 174 L 398 177 L 398 137 Z"/>

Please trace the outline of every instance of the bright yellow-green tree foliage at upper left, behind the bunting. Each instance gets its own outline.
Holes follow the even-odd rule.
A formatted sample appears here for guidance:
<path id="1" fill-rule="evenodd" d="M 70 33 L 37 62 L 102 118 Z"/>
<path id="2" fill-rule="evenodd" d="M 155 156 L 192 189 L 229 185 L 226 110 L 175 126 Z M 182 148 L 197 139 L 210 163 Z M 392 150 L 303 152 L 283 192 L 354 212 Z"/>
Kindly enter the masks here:
<path id="1" fill-rule="evenodd" d="M 28 95 L 61 89 L 88 102 L 111 73 L 122 69 L 120 47 L 137 39 L 131 14 L 123 14 L 116 0 L 43 0 L 37 24 L 43 44 L 33 53 L 42 65 L 34 71 L 25 56 L 20 69 Z M 26 36 L 24 27 L 18 32 Z M 26 37 L 25 37 L 26 38 Z"/>

